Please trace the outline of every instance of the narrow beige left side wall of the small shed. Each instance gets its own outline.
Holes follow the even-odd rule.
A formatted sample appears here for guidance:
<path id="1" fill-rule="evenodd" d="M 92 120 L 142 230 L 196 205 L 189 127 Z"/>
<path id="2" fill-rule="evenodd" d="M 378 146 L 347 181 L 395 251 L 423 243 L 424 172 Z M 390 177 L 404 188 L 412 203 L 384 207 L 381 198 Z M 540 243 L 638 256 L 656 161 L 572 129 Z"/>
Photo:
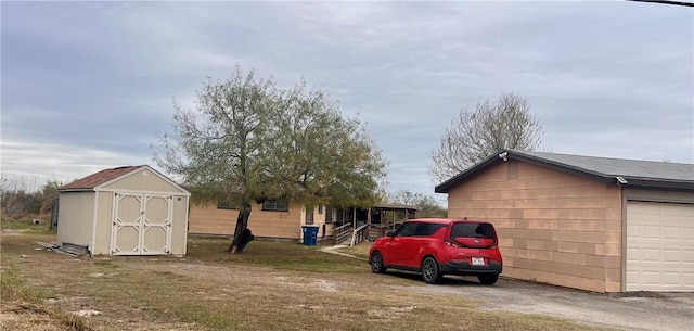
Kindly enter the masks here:
<path id="1" fill-rule="evenodd" d="M 57 243 L 91 245 L 94 192 L 61 192 Z"/>

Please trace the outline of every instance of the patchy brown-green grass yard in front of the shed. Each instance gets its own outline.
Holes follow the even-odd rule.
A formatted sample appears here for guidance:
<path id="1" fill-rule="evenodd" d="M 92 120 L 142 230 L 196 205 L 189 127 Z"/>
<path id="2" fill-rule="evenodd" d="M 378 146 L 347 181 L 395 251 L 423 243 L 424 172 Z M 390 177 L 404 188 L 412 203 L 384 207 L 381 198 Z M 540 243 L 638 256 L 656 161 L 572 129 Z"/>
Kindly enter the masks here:
<path id="1" fill-rule="evenodd" d="M 3 304 L 20 289 L 39 309 L 50 300 L 65 314 L 99 310 L 86 318 L 91 330 L 602 330 L 401 290 L 422 283 L 296 243 L 254 241 L 230 255 L 229 240 L 194 238 L 185 257 L 76 259 L 36 251 L 41 235 L 2 237 Z"/>

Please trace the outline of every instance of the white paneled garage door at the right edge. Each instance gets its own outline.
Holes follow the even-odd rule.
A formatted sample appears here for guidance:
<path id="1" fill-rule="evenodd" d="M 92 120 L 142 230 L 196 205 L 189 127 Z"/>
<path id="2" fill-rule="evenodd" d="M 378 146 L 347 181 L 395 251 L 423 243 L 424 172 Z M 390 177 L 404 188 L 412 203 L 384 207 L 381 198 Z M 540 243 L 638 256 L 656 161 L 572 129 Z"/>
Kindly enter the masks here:
<path id="1" fill-rule="evenodd" d="M 627 203 L 627 291 L 694 291 L 694 205 Z"/>

